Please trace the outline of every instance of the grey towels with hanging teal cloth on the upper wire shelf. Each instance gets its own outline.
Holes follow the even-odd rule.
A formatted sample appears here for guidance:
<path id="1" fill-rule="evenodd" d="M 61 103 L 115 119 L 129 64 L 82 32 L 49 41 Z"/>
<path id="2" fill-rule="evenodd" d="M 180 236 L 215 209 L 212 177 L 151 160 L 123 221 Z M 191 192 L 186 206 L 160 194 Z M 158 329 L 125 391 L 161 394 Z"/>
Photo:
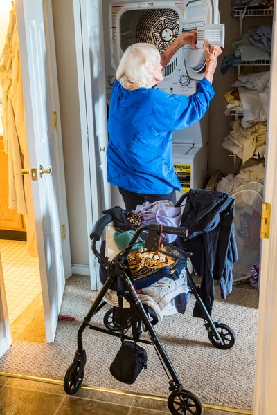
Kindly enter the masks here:
<path id="1" fill-rule="evenodd" d="M 220 72 L 224 75 L 234 65 L 245 61 L 269 60 L 271 55 L 271 26 L 248 28 L 238 42 L 233 42 L 233 55 L 224 57 Z"/>

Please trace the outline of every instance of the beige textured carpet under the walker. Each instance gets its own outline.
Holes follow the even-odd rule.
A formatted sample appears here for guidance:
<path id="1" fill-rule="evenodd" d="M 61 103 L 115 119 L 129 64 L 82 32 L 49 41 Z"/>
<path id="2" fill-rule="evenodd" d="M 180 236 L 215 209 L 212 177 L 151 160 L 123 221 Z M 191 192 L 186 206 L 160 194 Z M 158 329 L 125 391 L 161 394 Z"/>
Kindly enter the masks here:
<path id="1" fill-rule="evenodd" d="M 91 306 L 89 277 L 74 276 L 66 284 L 61 314 L 69 313 L 82 320 Z M 193 297 L 185 315 L 166 317 L 157 326 L 160 339 L 186 389 L 203 403 L 239 409 L 252 409 L 256 336 L 258 322 L 258 291 L 233 288 L 227 300 L 220 299 L 218 288 L 213 318 L 221 318 L 235 331 L 233 349 L 215 349 L 208 341 L 202 320 L 192 317 Z M 107 310 L 96 315 L 95 324 L 102 324 Z M 40 319 L 37 319 L 38 322 Z M 63 378 L 73 361 L 78 322 L 59 322 L 55 343 L 26 342 L 24 336 L 12 344 L 0 360 L 0 371 Z M 28 333 L 35 331 L 35 320 Z M 120 347 L 120 340 L 91 331 L 84 332 L 87 366 L 84 383 L 98 387 L 123 389 L 141 394 L 168 396 L 168 382 L 153 347 L 148 351 L 148 370 L 143 371 L 134 385 L 117 382 L 109 373 L 109 365 Z"/>

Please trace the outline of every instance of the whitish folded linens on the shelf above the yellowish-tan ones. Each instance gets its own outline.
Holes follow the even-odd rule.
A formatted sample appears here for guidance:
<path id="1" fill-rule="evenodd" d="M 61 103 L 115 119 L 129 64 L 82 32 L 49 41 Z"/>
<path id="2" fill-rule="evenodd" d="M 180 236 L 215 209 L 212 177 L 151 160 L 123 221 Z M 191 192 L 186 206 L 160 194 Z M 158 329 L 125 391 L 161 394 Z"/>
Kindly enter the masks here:
<path id="1" fill-rule="evenodd" d="M 267 121 L 269 106 L 269 72 L 242 73 L 232 84 L 238 88 L 242 102 L 242 127 Z"/>

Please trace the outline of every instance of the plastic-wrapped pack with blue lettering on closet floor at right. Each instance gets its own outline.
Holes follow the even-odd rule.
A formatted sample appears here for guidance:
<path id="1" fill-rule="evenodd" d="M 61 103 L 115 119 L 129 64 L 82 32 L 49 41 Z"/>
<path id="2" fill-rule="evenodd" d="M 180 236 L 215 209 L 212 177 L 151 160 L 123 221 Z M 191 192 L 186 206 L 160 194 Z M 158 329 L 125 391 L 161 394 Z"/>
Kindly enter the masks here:
<path id="1" fill-rule="evenodd" d="M 251 277 L 251 267 L 260 261 L 260 223 L 262 215 L 263 185 L 249 182 L 236 189 L 235 240 L 238 261 L 233 266 L 233 282 Z"/>

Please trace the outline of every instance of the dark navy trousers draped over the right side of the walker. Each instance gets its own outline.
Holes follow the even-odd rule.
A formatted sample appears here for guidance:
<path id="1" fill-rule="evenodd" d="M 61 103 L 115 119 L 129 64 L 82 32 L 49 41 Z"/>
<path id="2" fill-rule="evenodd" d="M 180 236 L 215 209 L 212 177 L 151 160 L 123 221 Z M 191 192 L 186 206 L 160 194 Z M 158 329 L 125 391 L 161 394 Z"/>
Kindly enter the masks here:
<path id="1" fill-rule="evenodd" d="M 211 314 L 215 299 L 214 280 L 220 281 L 221 297 L 231 293 L 233 264 L 238 260 L 235 243 L 235 199 L 227 193 L 190 190 L 181 226 L 188 228 L 188 239 L 179 243 L 192 252 L 190 258 L 202 281 L 199 295 Z M 203 317 L 199 306 L 193 315 Z"/>

